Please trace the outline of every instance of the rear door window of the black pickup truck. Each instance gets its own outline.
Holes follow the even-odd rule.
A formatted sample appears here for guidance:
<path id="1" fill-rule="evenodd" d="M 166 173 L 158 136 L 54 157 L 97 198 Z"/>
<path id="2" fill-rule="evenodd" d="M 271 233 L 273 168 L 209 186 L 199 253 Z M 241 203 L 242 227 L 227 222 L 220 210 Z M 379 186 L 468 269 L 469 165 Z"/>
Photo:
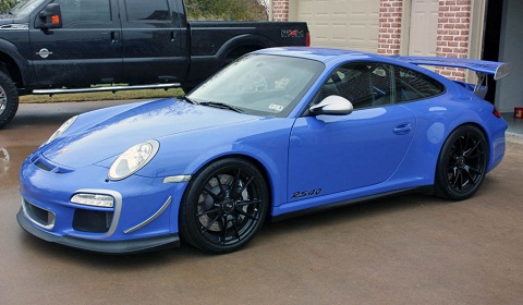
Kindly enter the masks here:
<path id="1" fill-rule="evenodd" d="M 167 0 L 125 0 L 129 22 L 171 22 Z"/>

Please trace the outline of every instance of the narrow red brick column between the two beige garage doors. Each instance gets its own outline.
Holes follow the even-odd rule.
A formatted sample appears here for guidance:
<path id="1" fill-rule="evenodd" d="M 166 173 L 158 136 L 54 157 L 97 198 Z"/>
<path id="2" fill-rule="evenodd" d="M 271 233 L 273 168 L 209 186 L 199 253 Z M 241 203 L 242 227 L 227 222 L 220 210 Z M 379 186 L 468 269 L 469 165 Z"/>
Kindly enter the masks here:
<path id="1" fill-rule="evenodd" d="M 399 54 L 403 0 L 379 1 L 378 54 Z"/>

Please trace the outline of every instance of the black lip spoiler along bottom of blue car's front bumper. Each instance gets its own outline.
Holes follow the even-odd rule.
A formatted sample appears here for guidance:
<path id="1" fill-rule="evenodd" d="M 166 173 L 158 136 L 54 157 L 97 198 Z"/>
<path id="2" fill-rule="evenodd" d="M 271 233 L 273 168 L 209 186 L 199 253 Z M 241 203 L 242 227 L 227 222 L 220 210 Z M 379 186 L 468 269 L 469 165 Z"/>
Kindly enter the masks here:
<path id="1" fill-rule="evenodd" d="M 180 237 L 178 234 L 169 234 L 163 236 L 131 240 L 131 241 L 94 241 L 72 236 L 56 236 L 42 230 L 35 228 L 24 216 L 24 209 L 21 208 L 16 215 L 16 220 L 28 233 L 51 243 L 58 243 L 70 247 L 86 249 L 90 252 L 108 253 L 108 254 L 130 254 L 144 251 L 158 249 L 163 247 L 179 247 Z"/>

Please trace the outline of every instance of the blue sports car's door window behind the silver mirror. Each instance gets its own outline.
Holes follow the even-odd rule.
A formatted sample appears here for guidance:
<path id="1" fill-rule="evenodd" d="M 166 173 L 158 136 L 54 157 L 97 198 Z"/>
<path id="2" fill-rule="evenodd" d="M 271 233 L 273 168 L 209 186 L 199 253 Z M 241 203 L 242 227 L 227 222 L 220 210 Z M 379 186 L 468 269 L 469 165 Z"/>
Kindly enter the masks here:
<path id="1" fill-rule="evenodd" d="M 337 68 L 320 89 L 319 99 L 338 95 L 354 109 L 379 107 L 394 101 L 392 68 L 378 62 L 349 63 Z M 319 101 L 318 101 L 319 102 Z"/>

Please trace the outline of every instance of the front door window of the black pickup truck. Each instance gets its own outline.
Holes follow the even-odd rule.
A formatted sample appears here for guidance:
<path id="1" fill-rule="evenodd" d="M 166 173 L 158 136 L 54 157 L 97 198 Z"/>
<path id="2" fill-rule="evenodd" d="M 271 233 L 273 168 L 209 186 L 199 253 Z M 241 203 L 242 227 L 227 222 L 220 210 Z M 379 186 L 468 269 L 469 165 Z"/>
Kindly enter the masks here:
<path id="1" fill-rule="evenodd" d="M 110 23 L 110 0 L 56 0 L 62 12 L 63 27 L 75 27 L 78 24 Z"/>

